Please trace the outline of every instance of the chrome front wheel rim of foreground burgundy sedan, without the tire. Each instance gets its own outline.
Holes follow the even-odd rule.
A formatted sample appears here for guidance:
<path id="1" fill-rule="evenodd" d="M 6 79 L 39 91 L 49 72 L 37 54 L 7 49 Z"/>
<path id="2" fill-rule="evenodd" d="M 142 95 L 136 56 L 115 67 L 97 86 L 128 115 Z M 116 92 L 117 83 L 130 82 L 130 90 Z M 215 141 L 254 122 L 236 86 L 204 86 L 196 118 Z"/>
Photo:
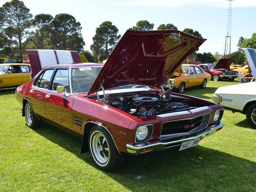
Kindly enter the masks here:
<path id="1" fill-rule="evenodd" d="M 95 160 L 102 164 L 106 164 L 109 159 L 108 141 L 100 132 L 94 132 L 91 138 L 91 148 Z"/>

